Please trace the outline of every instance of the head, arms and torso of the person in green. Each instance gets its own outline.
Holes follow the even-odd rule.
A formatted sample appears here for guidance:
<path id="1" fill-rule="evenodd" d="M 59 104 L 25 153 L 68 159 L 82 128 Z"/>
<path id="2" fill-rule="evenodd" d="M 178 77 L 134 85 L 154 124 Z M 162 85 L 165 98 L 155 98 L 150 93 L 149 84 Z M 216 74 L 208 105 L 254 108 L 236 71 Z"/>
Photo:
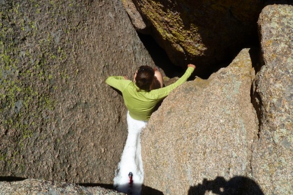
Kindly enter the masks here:
<path id="1" fill-rule="evenodd" d="M 150 69 L 149 69 L 150 68 Z M 125 79 L 125 77 L 112 76 L 106 79 L 106 83 L 122 92 L 124 102 L 129 111 L 129 115 L 137 120 L 147 121 L 156 104 L 165 98 L 174 88 L 184 83 L 195 66 L 188 64 L 186 73 L 175 83 L 167 87 L 150 90 L 154 80 L 154 71 L 151 73 L 151 67 L 141 66 L 134 76 L 134 82 Z M 162 85 L 163 86 L 163 83 Z"/>

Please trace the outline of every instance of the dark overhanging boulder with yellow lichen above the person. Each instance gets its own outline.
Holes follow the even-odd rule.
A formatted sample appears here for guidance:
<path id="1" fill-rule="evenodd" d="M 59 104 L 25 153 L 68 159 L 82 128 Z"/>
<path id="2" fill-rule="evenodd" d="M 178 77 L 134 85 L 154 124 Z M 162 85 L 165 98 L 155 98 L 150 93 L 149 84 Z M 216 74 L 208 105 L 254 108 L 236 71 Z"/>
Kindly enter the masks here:
<path id="1" fill-rule="evenodd" d="M 193 62 L 197 71 L 236 55 L 243 43 L 256 39 L 263 7 L 263 0 L 123 1 L 136 29 L 150 32 L 174 64 Z"/>

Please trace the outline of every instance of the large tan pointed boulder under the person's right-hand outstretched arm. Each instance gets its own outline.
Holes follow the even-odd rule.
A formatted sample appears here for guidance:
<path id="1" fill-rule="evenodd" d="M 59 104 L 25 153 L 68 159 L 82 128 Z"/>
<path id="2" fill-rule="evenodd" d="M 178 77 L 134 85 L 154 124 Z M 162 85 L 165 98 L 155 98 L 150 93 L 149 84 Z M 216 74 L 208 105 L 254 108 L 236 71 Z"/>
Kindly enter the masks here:
<path id="1" fill-rule="evenodd" d="M 253 183 L 251 145 L 258 133 L 250 96 L 253 53 L 243 49 L 208 80 L 178 87 L 153 113 L 142 135 L 146 186 L 196 195 L 227 184 L 228 194 L 261 194 L 257 184 L 245 186 Z"/>

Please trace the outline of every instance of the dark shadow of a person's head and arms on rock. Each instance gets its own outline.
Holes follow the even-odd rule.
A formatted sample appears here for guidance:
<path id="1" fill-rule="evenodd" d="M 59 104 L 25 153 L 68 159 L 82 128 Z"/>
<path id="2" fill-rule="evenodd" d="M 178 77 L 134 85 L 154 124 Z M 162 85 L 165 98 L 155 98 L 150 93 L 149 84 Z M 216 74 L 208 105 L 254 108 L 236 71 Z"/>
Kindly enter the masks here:
<path id="1" fill-rule="evenodd" d="M 204 179 L 202 184 L 190 187 L 188 195 L 205 195 L 206 191 L 217 195 L 264 195 L 255 181 L 243 176 L 228 181 L 220 176 L 211 181 Z"/>

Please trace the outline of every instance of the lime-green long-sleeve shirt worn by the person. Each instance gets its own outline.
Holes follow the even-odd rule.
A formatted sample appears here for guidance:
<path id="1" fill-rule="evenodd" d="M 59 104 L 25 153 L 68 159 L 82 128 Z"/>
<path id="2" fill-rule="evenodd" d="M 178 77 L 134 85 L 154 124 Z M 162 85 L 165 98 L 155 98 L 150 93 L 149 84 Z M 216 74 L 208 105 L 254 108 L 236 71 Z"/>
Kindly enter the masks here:
<path id="1" fill-rule="evenodd" d="M 175 83 L 151 91 L 140 90 L 131 80 L 126 80 L 121 76 L 108 77 L 106 83 L 122 92 L 125 105 L 132 118 L 148 120 L 156 104 L 177 86 L 184 83 L 190 77 L 193 70 L 193 68 L 188 67 L 185 74 Z"/>

